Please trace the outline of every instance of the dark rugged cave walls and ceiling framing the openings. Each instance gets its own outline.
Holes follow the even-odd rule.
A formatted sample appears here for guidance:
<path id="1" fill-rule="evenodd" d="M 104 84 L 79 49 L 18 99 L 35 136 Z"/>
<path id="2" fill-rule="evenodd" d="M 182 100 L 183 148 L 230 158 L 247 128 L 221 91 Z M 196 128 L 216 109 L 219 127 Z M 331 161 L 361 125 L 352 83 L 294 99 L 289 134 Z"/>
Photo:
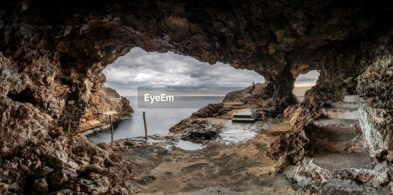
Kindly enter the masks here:
<path id="1" fill-rule="evenodd" d="M 2 194 L 136 193 L 132 164 L 78 133 L 102 70 L 134 47 L 261 74 L 271 93 L 253 117 L 290 120 L 267 155 L 293 188 L 391 193 L 390 2 L 16 0 L 0 13 Z M 298 103 L 296 78 L 313 70 Z"/>

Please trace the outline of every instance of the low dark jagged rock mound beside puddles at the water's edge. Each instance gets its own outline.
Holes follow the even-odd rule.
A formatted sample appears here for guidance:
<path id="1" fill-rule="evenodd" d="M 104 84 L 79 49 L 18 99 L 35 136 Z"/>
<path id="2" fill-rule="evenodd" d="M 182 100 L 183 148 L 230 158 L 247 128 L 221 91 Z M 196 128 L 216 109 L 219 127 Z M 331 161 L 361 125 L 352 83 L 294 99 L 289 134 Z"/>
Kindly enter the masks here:
<path id="1" fill-rule="evenodd" d="M 218 137 L 220 129 L 219 125 L 211 124 L 209 121 L 191 116 L 169 128 L 169 135 L 189 141 L 203 142 Z"/>

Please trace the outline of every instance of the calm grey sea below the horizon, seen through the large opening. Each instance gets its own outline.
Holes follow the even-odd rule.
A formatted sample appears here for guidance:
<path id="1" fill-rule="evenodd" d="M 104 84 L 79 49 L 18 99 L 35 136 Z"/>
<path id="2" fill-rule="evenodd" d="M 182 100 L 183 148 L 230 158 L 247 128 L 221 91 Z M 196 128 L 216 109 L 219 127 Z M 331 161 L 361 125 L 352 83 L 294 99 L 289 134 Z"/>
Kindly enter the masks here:
<path id="1" fill-rule="evenodd" d="M 168 134 L 169 128 L 182 119 L 185 119 L 193 112 L 198 111 L 209 103 L 220 103 L 224 96 L 182 96 L 175 97 L 176 105 L 173 108 L 138 108 L 137 96 L 125 96 L 134 114 L 130 117 L 124 117 L 113 123 L 113 139 L 123 139 L 127 137 L 138 137 L 145 135 L 145 127 L 143 124 L 143 112 L 146 115 L 147 134 Z M 190 106 L 192 105 L 192 106 Z M 190 108 L 193 107 L 193 108 Z M 110 128 L 86 135 L 87 139 L 93 143 L 109 143 Z"/>

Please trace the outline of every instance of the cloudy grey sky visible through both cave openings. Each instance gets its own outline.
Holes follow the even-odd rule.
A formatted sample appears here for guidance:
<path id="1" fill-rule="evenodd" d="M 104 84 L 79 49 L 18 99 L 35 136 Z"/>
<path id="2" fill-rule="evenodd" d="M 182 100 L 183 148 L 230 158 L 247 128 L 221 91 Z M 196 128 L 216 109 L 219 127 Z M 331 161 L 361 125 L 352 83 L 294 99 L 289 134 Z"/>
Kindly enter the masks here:
<path id="1" fill-rule="evenodd" d="M 318 72 L 312 72 L 298 77 L 295 87 L 298 85 L 299 94 L 304 95 L 305 88 L 315 85 Z M 107 77 L 105 86 L 121 96 L 136 96 L 138 87 L 247 87 L 252 82 L 264 82 L 263 76 L 252 70 L 220 62 L 210 65 L 189 56 L 146 52 L 138 47 L 108 65 L 103 73 Z"/>

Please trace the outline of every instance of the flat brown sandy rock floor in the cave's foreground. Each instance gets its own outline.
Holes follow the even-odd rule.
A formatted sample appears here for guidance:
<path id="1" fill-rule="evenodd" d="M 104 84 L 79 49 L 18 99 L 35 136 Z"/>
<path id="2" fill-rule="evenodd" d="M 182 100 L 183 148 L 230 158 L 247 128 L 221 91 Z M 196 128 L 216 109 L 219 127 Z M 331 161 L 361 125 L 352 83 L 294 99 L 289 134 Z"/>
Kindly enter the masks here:
<path id="1" fill-rule="evenodd" d="M 153 143 L 117 153 L 132 162 L 129 184 L 137 194 L 308 194 L 294 190 L 282 173 L 272 174 L 275 161 L 266 151 L 275 137 L 257 134 L 229 145 L 209 142 L 202 150 L 168 150 Z"/>

